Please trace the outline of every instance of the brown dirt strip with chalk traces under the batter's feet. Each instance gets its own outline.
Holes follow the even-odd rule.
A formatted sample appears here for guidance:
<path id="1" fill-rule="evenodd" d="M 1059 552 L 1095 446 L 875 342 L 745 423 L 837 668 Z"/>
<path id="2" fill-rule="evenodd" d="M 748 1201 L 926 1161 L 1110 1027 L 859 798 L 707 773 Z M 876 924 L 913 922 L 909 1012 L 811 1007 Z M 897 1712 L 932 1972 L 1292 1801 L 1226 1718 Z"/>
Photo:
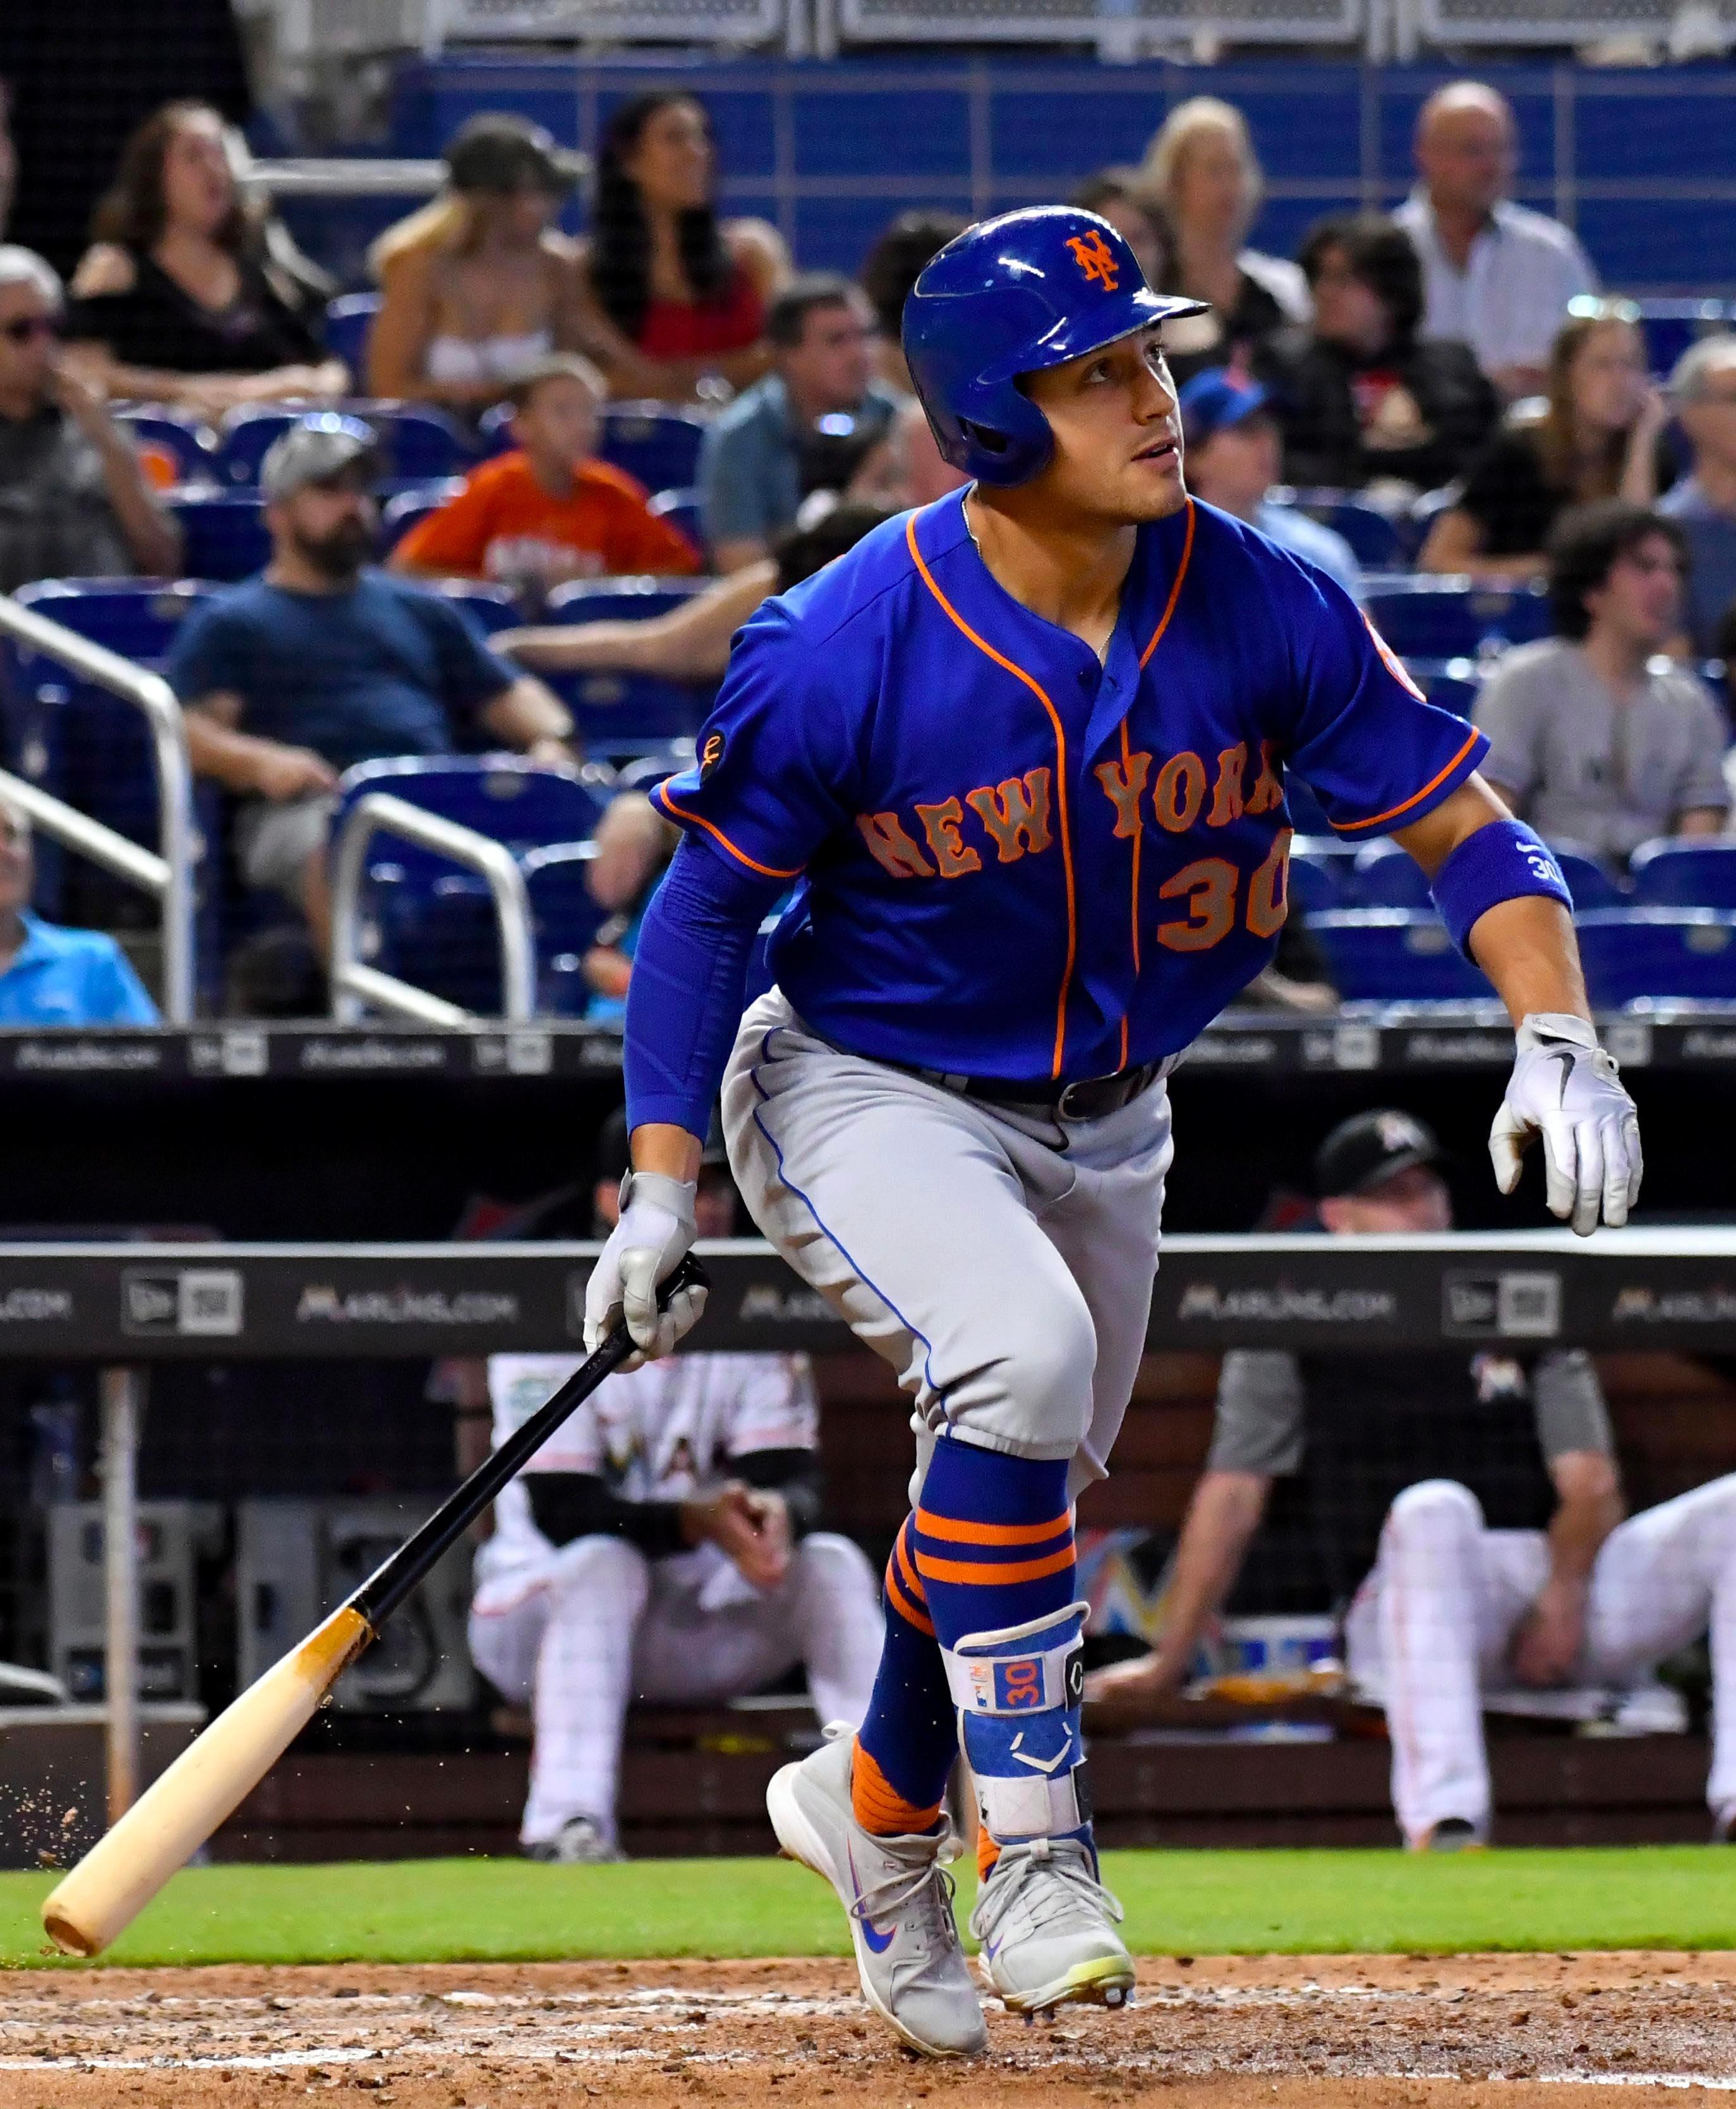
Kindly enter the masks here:
<path id="1" fill-rule="evenodd" d="M 19 1972 L 0 2109 L 1711 2101 L 1736 2094 L 1736 1955 L 1162 1957 L 1129 2012 L 991 2033 L 918 2060 L 823 1961 Z"/>

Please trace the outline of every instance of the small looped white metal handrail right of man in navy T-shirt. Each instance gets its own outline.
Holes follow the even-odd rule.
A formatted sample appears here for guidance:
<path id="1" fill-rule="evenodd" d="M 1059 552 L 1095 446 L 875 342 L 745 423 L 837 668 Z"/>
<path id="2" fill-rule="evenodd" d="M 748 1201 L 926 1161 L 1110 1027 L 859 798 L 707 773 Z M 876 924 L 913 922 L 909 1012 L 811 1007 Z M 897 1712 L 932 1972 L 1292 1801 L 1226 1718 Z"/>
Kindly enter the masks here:
<path id="1" fill-rule="evenodd" d="M 390 791 L 365 791 L 344 816 L 337 831 L 337 856 L 331 875 L 331 1017 L 337 1025 L 361 1023 L 363 1004 L 392 1010 L 422 1025 L 470 1025 L 475 1012 L 418 989 L 413 981 L 384 974 L 361 957 L 361 879 L 367 846 L 375 835 L 399 835 L 418 850 L 449 856 L 487 882 L 494 913 L 500 924 L 500 979 L 504 985 L 502 1014 L 523 1025 L 536 1014 L 536 945 L 529 924 L 529 894 L 519 860 L 504 841 L 479 835 L 472 827 L 443 820 L 435 812 L 392 797 Z"/>

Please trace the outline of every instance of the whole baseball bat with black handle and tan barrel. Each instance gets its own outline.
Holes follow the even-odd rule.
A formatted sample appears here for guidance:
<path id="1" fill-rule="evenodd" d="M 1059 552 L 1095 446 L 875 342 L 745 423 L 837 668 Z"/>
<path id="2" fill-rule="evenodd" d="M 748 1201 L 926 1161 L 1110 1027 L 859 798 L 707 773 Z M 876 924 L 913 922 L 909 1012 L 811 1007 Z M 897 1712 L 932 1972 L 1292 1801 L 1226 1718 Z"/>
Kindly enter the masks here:
<path id="1" fill-rule="evenodd" d="M 667 1301 L 677 1289 L 702 1284 L 705 1268 L 688 1255 L 662 1282 L 658 1301 Z M 312 1721 L 337 1677 L 378 1639 L 439 1556 L 629 1354 L 633 1339 L 618 1324 L 559 1392 L 491 1451 L 346 1603 L 181 1750 L 42 1904 L 42 1926 L 57 1949 L 65 1955 L 101 1955 L 133 1923 L 162 1883 L 186 1866 L 272 1769 Z"/>

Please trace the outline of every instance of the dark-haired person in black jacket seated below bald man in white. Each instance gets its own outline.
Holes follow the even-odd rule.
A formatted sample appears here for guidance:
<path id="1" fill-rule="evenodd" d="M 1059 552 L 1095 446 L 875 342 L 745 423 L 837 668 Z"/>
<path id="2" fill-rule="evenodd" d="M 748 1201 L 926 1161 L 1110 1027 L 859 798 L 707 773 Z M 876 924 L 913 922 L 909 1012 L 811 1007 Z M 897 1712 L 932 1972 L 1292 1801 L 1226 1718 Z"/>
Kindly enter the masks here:
<path id="1" fill-rule="evenodd" d="M 1285 481 L 1436 489 L 1477 453 L 1500 403 L 1464 344 L 1420 337 L 1422 266 L 1380 213 L 1323 219 L 1301 245 L 1312 329 L 1261 354 L 1285 430 Z"/>

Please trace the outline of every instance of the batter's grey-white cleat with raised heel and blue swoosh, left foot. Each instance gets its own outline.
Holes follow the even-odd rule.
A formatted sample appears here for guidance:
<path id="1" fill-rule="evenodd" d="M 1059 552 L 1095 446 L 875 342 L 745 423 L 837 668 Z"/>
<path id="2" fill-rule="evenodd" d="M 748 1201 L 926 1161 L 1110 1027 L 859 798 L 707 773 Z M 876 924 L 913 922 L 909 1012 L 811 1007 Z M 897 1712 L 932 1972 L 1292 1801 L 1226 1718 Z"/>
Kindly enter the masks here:
<path id="1" fill-rule="evenodd" d="M 854 1736 L 833 1723 L 827 1738 L 766 1788 L 778 1845 L 837 1892 L 850 1915 L 863 1997 L 911 2050 L 928 2058 L 987 2050 L 983 2001 L 970 1982 L 943 1866 L 958 1858 L 951 1826 L 899 1839 L 863 1831 L 850 1807 Z"/>

